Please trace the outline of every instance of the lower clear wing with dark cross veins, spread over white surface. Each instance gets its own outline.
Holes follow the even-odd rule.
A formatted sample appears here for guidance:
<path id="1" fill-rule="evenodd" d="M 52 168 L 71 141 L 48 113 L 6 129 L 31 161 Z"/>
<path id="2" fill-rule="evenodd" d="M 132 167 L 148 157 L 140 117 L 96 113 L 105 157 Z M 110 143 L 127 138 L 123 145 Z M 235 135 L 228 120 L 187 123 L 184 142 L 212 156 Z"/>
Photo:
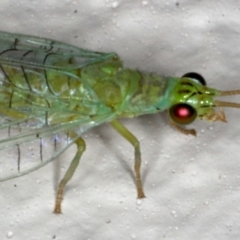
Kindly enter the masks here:
<path id="1" fill-rule="evenodd" d="M 105 115 L 91 122 L 79 120 L 62 125 L 31 127 L 31 119 L 0 122 L 0 181 L 33 172 L 52 162 L 68 149 L 88 129 L 110 121 L 114 115 Z M 36 125 L 36 121 L 34 121 Z M 77 137 L 69 137 L 69 131 Z"/>

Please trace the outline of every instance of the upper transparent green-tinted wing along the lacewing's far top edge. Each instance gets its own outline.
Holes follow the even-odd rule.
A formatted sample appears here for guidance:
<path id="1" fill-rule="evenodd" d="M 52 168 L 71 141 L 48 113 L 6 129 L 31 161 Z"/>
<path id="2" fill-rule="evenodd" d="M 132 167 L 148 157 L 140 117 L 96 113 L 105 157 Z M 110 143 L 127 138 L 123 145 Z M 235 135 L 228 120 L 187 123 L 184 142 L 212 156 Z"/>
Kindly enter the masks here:
<path id="1" fill-rule="evenodd" d="M 10 66 L 71 70 L 115 55 L 88 51 L 55 40 L 0 31 L 0 62 Z M 61 62 L 64 62 L 64 67 Z"/>

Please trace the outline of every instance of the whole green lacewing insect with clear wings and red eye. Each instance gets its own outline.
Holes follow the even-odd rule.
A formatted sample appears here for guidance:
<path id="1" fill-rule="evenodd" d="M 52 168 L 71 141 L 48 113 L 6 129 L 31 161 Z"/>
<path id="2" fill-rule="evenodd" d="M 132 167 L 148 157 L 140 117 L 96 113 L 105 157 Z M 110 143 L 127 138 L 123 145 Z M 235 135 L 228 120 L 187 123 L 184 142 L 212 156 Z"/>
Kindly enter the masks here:
<path id="1" fill-rule="evenodd" d="M 195 135 L 185 125 L 197 118 L 226 122 L 223 107 L 240 104 L 215 97 L 234 94 L 240 90 L 209 88 L 196 73 L 162 77 L 124 67 L 115 53 L 0 32 L 0 150 L 15 156 L 9 168 L 7 156 L 0 156 L 0 180 L 35 171 L 76 144 L 56 194 L 54 213 L 61 213 L 64 187 L 85 151 L 82 134 L 109 122 L 134 148 L 137 197 L 144 198 L 140 144 L 118 119 L 167 111 L 175 128 Z M 31 142 L 37 150 L 28 148 Z"/>

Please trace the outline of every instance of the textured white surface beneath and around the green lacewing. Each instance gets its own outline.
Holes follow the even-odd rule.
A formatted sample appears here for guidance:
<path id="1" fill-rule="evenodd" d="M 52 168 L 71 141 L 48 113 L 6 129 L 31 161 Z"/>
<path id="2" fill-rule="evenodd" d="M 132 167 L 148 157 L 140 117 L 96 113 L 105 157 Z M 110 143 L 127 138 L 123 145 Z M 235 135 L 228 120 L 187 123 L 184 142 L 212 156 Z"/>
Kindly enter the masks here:
<path id="1" fill-rule="evenodd" d="M 209 86 L 240 88 L 237 1 L 5 0 L 0 9 L 1 30 L 115 51 L 132 68 L 196 71 Z M 131 146 L 107 124 L 89 132 L 62 215 L 52 214 L 56 164 L 0 184 L 0 239 L 238 239 L 240 112 L 226 114 L 228 124 L 194 123 L 197 138 L 169 127 L 164 115 L 124 121 L 142 144 L 142 201 Z M 71 151 L 61 158 L 64 169 Z"/>

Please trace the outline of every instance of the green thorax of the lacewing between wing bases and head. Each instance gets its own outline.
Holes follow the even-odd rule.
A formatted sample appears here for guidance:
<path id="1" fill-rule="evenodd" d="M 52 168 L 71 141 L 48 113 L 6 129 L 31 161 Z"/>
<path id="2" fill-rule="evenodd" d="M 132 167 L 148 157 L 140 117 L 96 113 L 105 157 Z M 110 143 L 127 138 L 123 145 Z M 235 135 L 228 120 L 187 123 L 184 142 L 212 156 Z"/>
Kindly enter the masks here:
<path id="1" fill-rule="evenodd" d="M 81 78 L 120 117 L 155 113 L 169 106 L 167 78 L 124 68 L 118 57 L 83 68 Z"/>

